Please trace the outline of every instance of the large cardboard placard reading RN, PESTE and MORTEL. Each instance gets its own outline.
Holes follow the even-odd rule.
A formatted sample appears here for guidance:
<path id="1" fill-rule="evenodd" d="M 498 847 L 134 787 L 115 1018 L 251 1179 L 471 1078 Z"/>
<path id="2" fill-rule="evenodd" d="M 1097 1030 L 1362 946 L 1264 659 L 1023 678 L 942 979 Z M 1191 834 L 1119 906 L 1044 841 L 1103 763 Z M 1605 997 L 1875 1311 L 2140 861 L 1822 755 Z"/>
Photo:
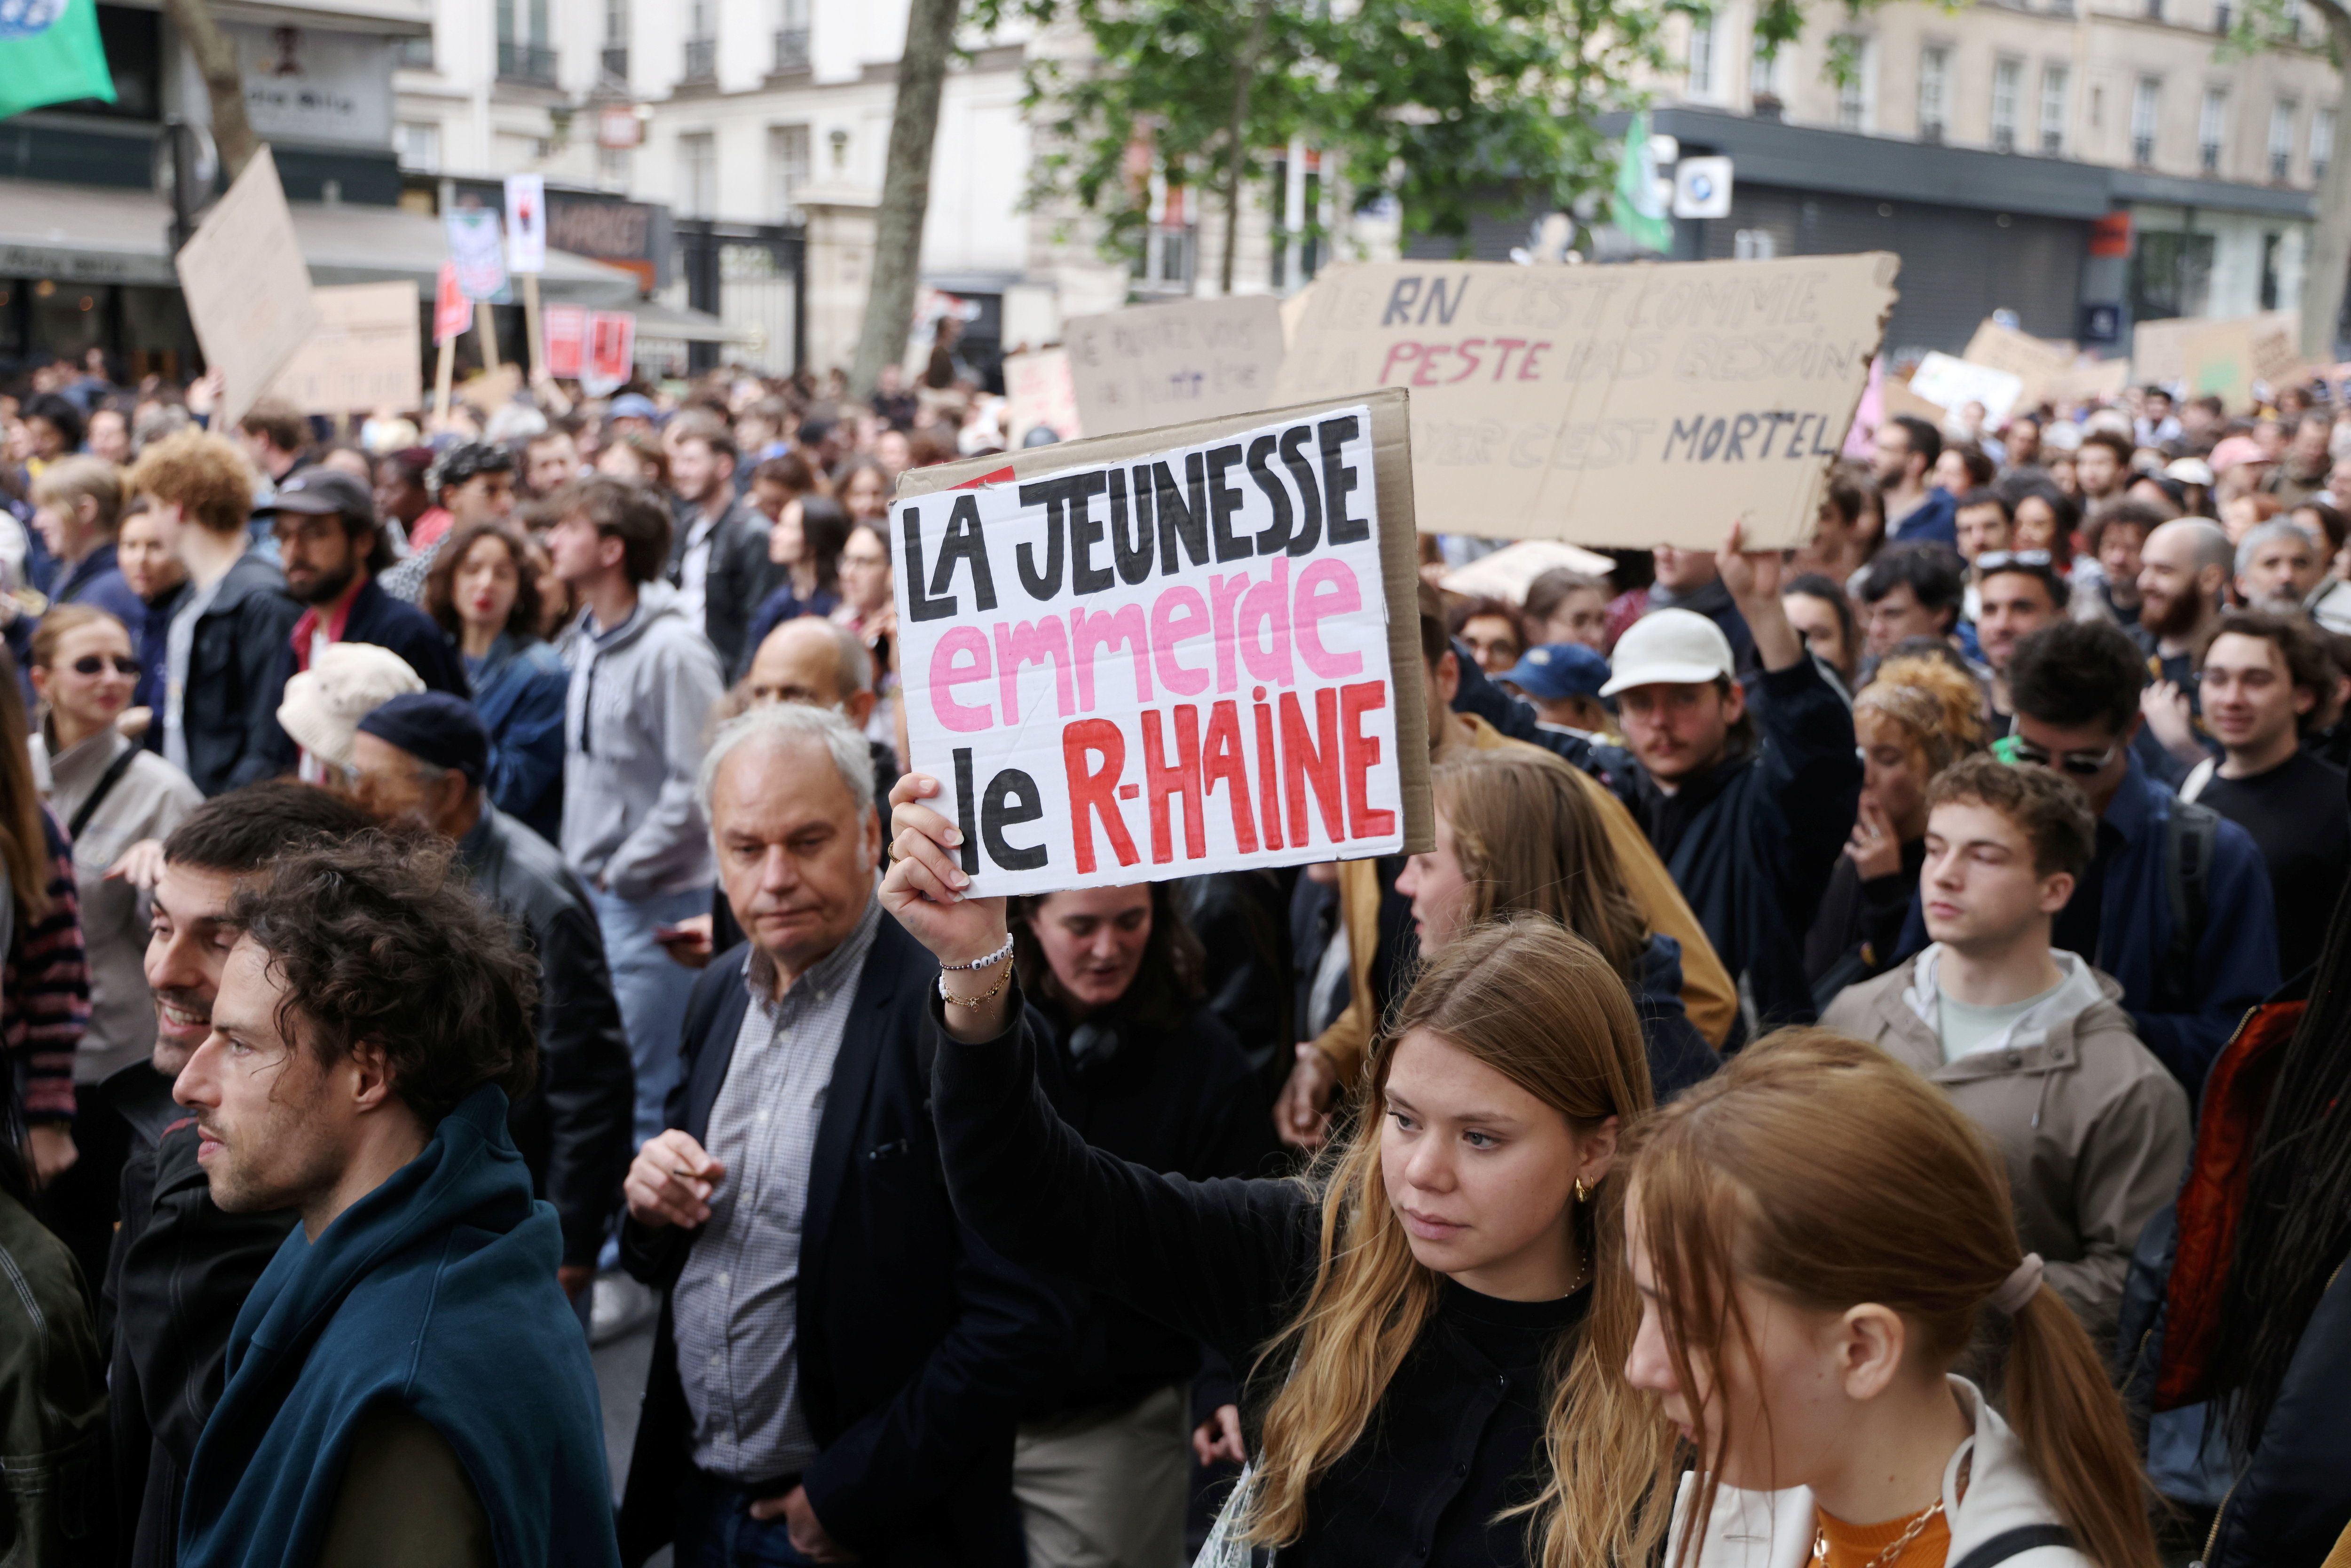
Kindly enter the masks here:
<path id="1" fill-rule="evenodd" d="M 1413 390 L 1432 534 L 1806 541 L 1900 259 L 1349 266 L 1314 284 L 1281 400 Z"/>

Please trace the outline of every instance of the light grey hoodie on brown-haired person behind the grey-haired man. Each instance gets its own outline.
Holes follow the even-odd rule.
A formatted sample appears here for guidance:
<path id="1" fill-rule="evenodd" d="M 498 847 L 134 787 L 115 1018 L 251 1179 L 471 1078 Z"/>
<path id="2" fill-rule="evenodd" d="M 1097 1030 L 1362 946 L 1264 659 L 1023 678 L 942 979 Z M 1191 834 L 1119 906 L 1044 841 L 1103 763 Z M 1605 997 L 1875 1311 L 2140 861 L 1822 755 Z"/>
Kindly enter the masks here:
<path id="1" fill-rule="evenodd" d="M 694 802 L 719 658 L 665 583 L 609 642 L 585 621 L 564 701 L 564 858 L 616 898 L 708 889 L 710 825 Z"/>

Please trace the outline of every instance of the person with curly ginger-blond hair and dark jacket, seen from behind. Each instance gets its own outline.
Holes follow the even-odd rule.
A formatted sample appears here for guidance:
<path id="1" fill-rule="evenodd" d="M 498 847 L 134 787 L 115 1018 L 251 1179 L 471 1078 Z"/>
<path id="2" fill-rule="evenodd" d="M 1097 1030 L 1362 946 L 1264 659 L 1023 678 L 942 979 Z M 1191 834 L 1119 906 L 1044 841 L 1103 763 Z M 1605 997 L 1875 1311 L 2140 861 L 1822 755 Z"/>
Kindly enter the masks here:
<path id="1" fill-rule="evenodd" d="M 284 574 L 254 550 L 254 470 L 226 437 L 179 430 L 148 442 L 122 489 L 146 496 L 162 545 L 188 567 L 165 637 L 165 762 L 221 795 L 277 771 L 277 649 L 301 618 Z"/>

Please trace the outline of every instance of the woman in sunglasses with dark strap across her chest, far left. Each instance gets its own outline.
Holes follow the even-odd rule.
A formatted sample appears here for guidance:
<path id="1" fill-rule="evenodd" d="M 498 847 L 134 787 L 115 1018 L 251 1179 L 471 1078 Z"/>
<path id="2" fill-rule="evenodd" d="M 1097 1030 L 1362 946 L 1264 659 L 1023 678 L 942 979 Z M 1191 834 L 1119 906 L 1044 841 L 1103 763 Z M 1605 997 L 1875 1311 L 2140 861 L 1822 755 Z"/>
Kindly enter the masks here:
<path id="1" fill-rule="evenodd" d="M 82 1262 L 103 1279 L 115 1222 L 115 1190 L 129 1157 L 129 1124 L 94 1100 L 99 1084 L 155 1044 L 155 1001 L 146 985 L 148 917 L 139 889 L 108 870 L 132 844 L 160 839 L 205 804 L 188 776 L 115 719 L 139 684 L 129 630 L 103 609 L 59 604 L 33 630 L 33 780 L 73 839 L 73 884 L 89 959 L 89 1027 L 73 1053 L 80 1159 L 56 1178 L 47 1213 Z"/>

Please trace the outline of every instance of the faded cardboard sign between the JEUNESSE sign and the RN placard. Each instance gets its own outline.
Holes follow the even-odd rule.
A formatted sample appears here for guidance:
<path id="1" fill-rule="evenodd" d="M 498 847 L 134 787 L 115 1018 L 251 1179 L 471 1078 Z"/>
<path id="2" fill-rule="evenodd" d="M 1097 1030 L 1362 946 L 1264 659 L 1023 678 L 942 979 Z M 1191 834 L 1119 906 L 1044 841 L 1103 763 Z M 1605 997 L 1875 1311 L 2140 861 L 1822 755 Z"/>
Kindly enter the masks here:
<path id="1" fill-rule="evenodd" d="M 1131 306 L 1072 315 L 1060 341 L 1079 421 L 1091 435 L 1124 435 L 1270 407 L 1281 306 L 1272 294 Z"/>

